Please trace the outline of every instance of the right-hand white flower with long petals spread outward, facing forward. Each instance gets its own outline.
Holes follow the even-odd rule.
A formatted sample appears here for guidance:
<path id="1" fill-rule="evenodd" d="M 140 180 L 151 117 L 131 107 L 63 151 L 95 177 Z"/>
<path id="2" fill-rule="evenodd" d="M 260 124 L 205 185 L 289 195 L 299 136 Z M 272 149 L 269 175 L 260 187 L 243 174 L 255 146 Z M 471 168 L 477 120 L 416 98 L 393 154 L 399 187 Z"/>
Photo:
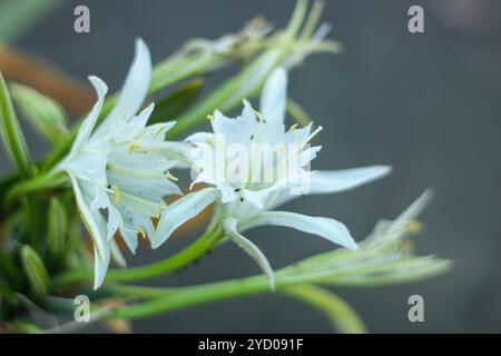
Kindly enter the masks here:
<path id="1" fill-rule="evenodd" d="M 257 246 L 242 235 L 249 228 L 262 225 L 286 226 L 322 236 L 347 248 L 357 248 L 347 228 L 335 219 L 274 209 L 299 195 L 355 188 L 387 175 L 391 169 L 387 166 L 314 172 L 305 169 L 321 149 L 308 146 L 321 128 L 312 132 L 312 125 L 308 125 L 285 130 L 286 85 L 285 70 L 275 70 L 264 86 L 261 113 L 244 101 L 239 117 L 230 119 L 216 111 L 210 119 L 214 132 L 195 134 L 187 139 L 194 145 L 191 158 L 198 174 L 194 184 L 204 182 L 209 187 L 180 198 L 164 210 L 151 239 L 154 248 L 213 201 L 220 206 L 226 235 L 256 259 L 268 275 L 272 288 L 274 277 L 269 263 Z M 240 149 L 230 149 L 230 145 L 238 146 L 242 151 L 246 148 L 248 155 L 235 155 Z M 273 158 L 267 161 L 255 155 L 256 147 L 265 146 L 275 149 Z M 200 159 L 204 155 L 213 159 Z M 243 159 L 244 156 L 246 159 Z M 222 160 L 223 167 L 218 164 Z M 252 179 L 254 176 L 261 177 L 261 171 L 266 169 L 272 171 L 268 179 Z M 237 174 L 232 176 L 234 170 Z M 235 176 L 240 179 L 233 179 Z"/>

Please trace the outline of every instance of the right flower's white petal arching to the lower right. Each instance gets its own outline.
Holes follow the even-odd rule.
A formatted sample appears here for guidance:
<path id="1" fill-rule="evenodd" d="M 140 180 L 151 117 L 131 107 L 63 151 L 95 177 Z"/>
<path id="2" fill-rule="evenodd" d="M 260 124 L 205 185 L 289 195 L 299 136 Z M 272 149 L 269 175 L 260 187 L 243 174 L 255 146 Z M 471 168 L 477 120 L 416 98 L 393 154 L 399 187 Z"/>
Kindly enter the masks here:
<path id="1" fill-rule="evenodd" d="M 322 236 L 341 246 L 357 249 L 356 243 L 347 228 L 342 222 L 331 218 L 312 217 L 289 211 L 265 211 L 240 224 L 239 227 L 244 230 L 262 225 L 292 227 L 301 231 Z"/>

